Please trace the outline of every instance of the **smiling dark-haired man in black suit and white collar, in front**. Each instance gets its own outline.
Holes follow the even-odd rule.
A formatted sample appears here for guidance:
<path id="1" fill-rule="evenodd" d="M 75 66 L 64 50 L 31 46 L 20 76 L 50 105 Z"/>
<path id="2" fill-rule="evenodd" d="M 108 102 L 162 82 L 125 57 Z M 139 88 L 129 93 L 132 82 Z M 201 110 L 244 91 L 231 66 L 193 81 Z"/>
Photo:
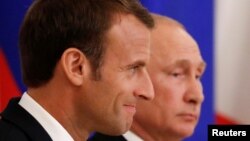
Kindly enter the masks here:
<path id="1" fill-rule="evenodd" d="M 136 0 L 35 0 L 19 39 L 27 91 L 1 113 L 0 140 L 126 132 L 137 101 L 154 96 L 146 70 L 153 26 Z"/>

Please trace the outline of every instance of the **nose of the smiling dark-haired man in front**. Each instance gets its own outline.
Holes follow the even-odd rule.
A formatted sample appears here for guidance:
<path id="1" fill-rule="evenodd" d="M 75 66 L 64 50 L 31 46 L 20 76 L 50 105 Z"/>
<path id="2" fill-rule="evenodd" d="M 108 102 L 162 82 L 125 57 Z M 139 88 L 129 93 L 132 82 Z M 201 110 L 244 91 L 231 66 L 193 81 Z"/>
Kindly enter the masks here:
<path id="1" fill-rule="evenodd" d="M 143 100 L 152 100 L 154 98 L 154 88 L 147 70 L 144 71 L 139 79 L 134 95 Z"/>

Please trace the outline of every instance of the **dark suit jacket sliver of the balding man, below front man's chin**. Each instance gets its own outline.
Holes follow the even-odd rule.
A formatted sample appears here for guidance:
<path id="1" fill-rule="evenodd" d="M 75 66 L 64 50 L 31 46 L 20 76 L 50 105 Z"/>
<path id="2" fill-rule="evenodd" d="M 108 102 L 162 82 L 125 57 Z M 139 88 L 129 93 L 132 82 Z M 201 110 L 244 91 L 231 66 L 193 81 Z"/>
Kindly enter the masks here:
<path id="1" fill-rule="evenodd" d="M 101 133 L 95 133 L 88 141 L 127 141 L 122 135 L 121 136 L 109 136 Z"/>

